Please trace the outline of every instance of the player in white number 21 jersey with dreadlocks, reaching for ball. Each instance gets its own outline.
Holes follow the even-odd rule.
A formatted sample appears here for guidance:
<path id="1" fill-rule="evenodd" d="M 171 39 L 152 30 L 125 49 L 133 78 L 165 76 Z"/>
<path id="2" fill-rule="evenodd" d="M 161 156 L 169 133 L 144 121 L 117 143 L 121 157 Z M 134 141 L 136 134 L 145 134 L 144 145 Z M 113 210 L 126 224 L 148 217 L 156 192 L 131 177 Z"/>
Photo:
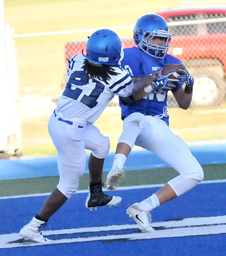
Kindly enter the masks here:
<path id="1" fill-rule="evenodd" d="M 20 236 L 25 240 L 48 241 L 40 228 L 78 189 L 86 165 L 85 149 L 92 151 L 88 163 L 91 183 L 86 207 L 92 209 L 121 202 L 121 197 L 105 195 L 102 190 L 101 178 L 104 158 L 109 152 L 109 139 L 93 123 L 114 95 L 139 100 L 147 94 L 151 82 L 160 79 L 156 73 L 134 83 L 120 66 L 122 46 L 115 32 L 98 30 L 88 39 L 87 54 L 69 59 L 69 79 L 48 124 L 49 134 L 57 148 L 59 183 L 40 212 L 20 230 Z"/>

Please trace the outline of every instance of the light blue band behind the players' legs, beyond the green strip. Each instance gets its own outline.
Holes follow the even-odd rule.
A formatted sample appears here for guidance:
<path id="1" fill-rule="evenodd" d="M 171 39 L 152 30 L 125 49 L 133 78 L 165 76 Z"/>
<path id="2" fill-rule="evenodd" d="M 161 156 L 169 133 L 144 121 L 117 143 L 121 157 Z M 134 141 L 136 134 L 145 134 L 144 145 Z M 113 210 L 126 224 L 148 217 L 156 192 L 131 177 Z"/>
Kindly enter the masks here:
<path id="1" fill-rule="evenodd" d="M 191 153 L 200 164 L 225 164 L 226 143 L 190 146 Z M 87 159 L 89 154 L 87 154 Z M 113 163 L 114 152 L 105 159 L 104 172 L 109 172 Z M 147 150 L 134 150 L 125 163 L 125 171 L 147 170 L 170 167 L 157 155 Z M 88 173 L 86 164 L 85 174 Z M 31 159 L 0 160 L 0 180 L 26 179 L 32 177 L 57 176 L 57 156 Z"/>

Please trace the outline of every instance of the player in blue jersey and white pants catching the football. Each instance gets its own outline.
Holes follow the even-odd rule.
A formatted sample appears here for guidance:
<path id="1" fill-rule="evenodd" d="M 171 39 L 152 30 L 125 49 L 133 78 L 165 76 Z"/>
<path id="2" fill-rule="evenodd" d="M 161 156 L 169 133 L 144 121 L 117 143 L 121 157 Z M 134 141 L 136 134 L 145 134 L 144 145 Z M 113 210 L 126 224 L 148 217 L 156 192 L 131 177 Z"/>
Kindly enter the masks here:
<path id="1" fill-rule="evenodd" d="M 169 55 L 171 35 L 164 18 L 156 14 L 140 17 L 134 26 L 136 47 L 124 49 L 122 67 L 132 77 L 143 77 L 163 69 L 170 64 L 182 64 L 177 57 Z M 194 79 L 186 68 L 176 73 L 178 82 L 168 86 L 178 106 L 187 109 L 190 106 Z M 185 89 L 182 85 L 185 84 Z M 203 170 L 197 159 L 191 154 L 187 144 L 174 135 L 169 128 L 167 114 L 167 94 L 164 82 L 152 82 L 152 90 L 147 96 L 136 102 L 121 98 L 120 106 L 123 119 L 123 132 L 118 141 L 113 167 L 106 180 L 108 190 L 116 189 L 123 180 L 123 165 L 134 144 L 154 152 L 172 166 L 179 175 L 169 180 L 156 193 L 127 209 L 143 232 L 152 232 L 150 211 L 160 204 L 182 195 L 203 180 Z"/>

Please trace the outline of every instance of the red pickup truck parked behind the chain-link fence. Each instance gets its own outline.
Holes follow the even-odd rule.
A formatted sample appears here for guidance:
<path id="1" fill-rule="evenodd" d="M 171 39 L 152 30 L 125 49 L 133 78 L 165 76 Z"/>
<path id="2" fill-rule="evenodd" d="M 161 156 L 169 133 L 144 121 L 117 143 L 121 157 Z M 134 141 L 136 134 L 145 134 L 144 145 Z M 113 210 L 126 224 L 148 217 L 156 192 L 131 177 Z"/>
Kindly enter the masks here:
<path id="1" fill-rule="evenodd" d="M 169 53 L 181 59 L 195 78 L 191 106 L 216 106 L 226 94 L 226 7 L 194 7 L 157 12 L 169 24 Z M 123 39 L 125 47 L 133 39 Z M 85 43 L 65 46 L 66 60 L 80 53 Z M 169 94 L 168 106 L 176 106 Z"/>

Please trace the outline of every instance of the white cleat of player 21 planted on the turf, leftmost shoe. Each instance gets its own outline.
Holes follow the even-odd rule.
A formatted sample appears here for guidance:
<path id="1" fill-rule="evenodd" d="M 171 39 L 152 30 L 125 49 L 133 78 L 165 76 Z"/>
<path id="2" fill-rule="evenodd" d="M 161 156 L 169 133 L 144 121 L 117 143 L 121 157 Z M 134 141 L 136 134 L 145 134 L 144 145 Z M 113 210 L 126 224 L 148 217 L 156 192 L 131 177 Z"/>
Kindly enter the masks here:
<path id="1" fill-rule="evenodd" d="M 33 217 L 32 220 L 20 230 L 19 234 L 24 240 L 38 243 L 49 242 L 48 238 L 42 236 L 40 228 L 45 224 L 45 221 L 37 220 Z"/>

